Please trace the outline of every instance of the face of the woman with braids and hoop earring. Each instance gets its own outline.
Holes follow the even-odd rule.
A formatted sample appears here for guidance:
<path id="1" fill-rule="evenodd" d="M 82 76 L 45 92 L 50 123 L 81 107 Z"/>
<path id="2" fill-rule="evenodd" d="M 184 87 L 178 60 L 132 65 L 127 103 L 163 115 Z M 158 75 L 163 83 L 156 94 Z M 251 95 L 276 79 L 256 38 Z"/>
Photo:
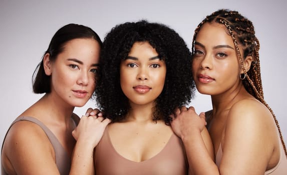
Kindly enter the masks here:
<path id="1" fill-rule="evenodd" d="M 192 73 L 200 93 L 216 95 L 238 86 L 239 60 L 223 24 L 203 24 L 196 36 L 194 50 Z"/>

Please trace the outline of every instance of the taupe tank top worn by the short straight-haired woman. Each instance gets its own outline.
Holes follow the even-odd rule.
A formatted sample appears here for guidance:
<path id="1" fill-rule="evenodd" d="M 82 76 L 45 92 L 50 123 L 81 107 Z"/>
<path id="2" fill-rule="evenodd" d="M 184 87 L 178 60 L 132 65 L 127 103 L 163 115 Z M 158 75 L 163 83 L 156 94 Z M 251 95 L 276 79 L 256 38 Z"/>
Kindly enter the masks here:
<path id="1" fill-rule="evenodd" d="M 13 121 L 11 126 L 14 123 L 16 123 L 17 121 L 21 121 L 21 120 L 27 120 L 27 121 L 34 122 L 34 123 L 38 124 L 44 130 L 44 132 L 47 134 L 51 144 L 53 145 L 55 155 L 56 155 L 56 164 L 57 164 L 57 167 L 59 169 L 60 174 L 61 175 L 69 174 L 70 168 L 71 168 L 71 158 L 68 155 L 68 152 L 66 151 L 66 149 L 62 146 L 62 144 L 59 142 L 57 137 L 53 134 L 53 132 L 46 125 L 44 125 L 41 121 L 39 121 L 38 119 L 31 117 L 31 116 L 18 117 L 16 120 Z M 75 121 L 75 119 L 74 119 L 74 121 Z M 77 124 L 77 122 L 76 122 L 76 124 Z M 7 133 L 9 132 L 11 126 L 9 127 Z M 6 135 L 7 135 L 7 133 L 6 133 Z M 6 135 L 5 135 L 5 138 L 6 138 Z M 4 138 L 4 141 L 5 141 L 5 138 Z M 3 141 L 3 144 L 4 144 L 4 141 Z M 3 144 L 2 144 L 2 148 L 3 148 Z M 28 151 L 30 151 L 30 150 L 28 150 Z M 2 153 L 2 149 L 1 149 L 1 153 Z M 2 175 L 8 175 L 7 172 L 4 170 L 2 163 L 1 163 L 1 169 L 2 169 Z"/>

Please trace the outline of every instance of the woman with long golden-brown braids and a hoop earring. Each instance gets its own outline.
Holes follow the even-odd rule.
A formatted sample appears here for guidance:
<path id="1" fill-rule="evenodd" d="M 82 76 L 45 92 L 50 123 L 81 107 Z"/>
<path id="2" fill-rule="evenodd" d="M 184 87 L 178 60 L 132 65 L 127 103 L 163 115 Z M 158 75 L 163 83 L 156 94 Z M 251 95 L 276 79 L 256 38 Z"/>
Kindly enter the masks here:
<path id="1" fill-rule="evenodd" d="M 172 128 L 183 140 L 195 174 L 285 174 L 286 148 L 279 124 L 263 98 L 259 42 L 250 20 L 220 9 L 195 29 L 192 72 L 213 109 L 174 111 Z M 206 120 L 205 120 L 206 118 Z M 215 163 L 200 131 L 207 121 Z"/>

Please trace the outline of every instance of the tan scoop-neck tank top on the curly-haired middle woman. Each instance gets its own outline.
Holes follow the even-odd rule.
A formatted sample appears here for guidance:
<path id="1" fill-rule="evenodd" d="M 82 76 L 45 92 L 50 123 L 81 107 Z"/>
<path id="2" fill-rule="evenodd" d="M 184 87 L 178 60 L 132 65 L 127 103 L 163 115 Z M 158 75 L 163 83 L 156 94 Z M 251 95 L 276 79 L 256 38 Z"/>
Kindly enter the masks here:
<path id="1" fill-rule="evenodd" d="M 96 174 L 165 174 L 183 175 L 188 173 L 183 143 L 179 137 L 172 134 L 165 147 L 152 158 L 136 162 L 120 155 L 112 145 L 107 129 L 96 147 Z"/>

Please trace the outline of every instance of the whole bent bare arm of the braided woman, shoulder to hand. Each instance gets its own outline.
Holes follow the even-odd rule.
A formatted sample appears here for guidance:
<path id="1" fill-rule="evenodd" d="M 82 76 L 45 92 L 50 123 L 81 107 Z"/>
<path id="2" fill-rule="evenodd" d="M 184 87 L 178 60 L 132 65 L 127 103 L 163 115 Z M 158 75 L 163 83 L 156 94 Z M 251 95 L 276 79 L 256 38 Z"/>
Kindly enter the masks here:
<path id="1" fill-rule="evenodd" d="M 177 112 L 172 127 L 183 140 L 195 174 L 264 174 L 277 142 L 277 132 L 263 104 L 257 100 L 241 100 L 229 110 L 219 168 L 204 149 L 199 134 L 203 125 L 200 118 L 194 111 L 188 111 Z"/>

